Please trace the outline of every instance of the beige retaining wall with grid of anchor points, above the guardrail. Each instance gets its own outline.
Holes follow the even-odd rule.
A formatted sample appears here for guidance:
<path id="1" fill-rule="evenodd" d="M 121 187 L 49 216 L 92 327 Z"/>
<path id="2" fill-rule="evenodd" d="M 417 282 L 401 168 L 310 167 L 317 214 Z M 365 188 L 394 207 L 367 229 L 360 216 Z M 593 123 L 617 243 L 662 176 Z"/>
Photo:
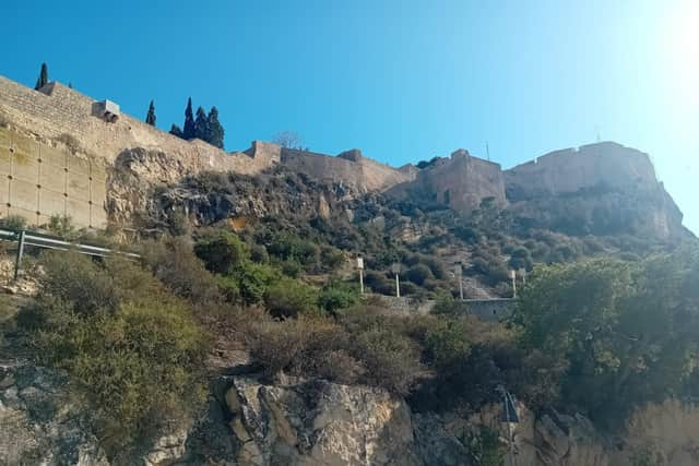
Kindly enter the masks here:
<path id="1" fill-rule="evenodd" d="M 68 215 L 78 227 L 104 228 L 104 163 L 0 127 L 0 216 L 44 225 Z"/>

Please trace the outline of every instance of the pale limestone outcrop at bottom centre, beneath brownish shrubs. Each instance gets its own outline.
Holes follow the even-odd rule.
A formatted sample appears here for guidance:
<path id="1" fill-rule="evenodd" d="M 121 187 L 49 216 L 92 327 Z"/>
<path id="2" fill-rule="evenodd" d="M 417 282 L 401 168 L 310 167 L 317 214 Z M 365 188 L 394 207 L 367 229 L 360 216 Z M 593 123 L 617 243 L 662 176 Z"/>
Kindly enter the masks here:
<path id="1" fill-rule="evenodd" d="M 422 464 L 407 405 L 380 390 L 235 378 L 225 399 L 241 466 Z"/>

